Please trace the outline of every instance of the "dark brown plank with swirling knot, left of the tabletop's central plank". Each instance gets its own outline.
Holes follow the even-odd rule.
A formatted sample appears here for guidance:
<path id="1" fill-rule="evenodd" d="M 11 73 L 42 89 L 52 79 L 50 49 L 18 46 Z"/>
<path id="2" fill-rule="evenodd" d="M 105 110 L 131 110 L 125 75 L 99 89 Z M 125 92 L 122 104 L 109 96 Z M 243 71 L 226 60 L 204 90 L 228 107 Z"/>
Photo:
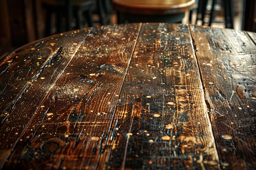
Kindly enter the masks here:
<path id="1" fill-rule="evenodd" d="M 97 166 L 140 26 L 92 30 L 40 105 L 4 168 Z"/>

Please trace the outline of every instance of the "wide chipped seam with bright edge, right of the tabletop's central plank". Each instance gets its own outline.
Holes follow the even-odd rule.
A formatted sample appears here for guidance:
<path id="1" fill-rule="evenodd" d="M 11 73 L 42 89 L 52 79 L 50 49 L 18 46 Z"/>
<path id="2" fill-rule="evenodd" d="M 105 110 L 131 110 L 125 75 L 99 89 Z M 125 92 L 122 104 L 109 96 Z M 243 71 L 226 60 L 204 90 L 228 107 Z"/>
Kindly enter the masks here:
<path id="1" fill-rule="evenodd" d="M 196 61 L 196 65 L 197 65 L 197 69 L 198 69 L 198 72 L 199 72 L 199 76 L 200 76 L 200 83 L 201 83 L 201 89 L 202 89 L 202 98 L 203 98 L 203 101 L 205 102 L 205 104 L 206 104 L 206 106 L 207 106 L 207 108 L 210 110 L 211 109 L 211 107 L 210 107 L 210 104 L 209 104 L 209 102 L 207 101 L 207 99 L 206 99 L 206 95 L 205 95 L 205 88 L 204 88 L 204 83 L 203 83 L 203 79 L 202 79 L 202 73 L 201 73 L 201 71 L 200 71 L 200 66 L 199 66 L 199 64 L 198 64 L 198 57 L 197 57 L 197 55 L 196 55 L 196 53 L 195 53 L 195 48 L 196 48 L 196 46 L 195 46 L 195 42 L 194 42 L 194 40 L 193 40 L 193 37 L 192 37 L 192 34 L 191 34 L 191 28 L 190 28 L 190 26 L 192 26 L 191 24 L 187 24 L 187 27 L 188 27 L 188 30 L 189 30 L 189 36 L 190 36 L 190 43 L 191 43 L 191 45 L 192 45 L 192 50 L 193 50 L 193 54 L 194 54 L 194 56 L 195 56 L 195 61 Z M 206 113 L 207 113 L 207 110 L 206 110 Z M 210 112 L 209 112 L 210 113 Z M 211 137 L 212 137 L 212 139 L 213 139 L 213 141 L 214 141 L 214 151 L 216 152 L 216 155 L 215 155 L 215 157 L 216 157 L 216 159 L 217 159 L 217 161 L 218 161 L 218 169 L 220 170 L 221 168 L 220 168 L 220 159 L 219 159 L 219 155 L 218 155 L 218 151 L 217 151 L 217 148 L 216 148 L 216 139 L 215 139 L 215 137 L 214 137 L 214 135 L 213 135 L 213 127 L 212 127 L 212 125 L 211 125 L 211 119 L 210 119 L 210 117 L 209 117 L 209 115 L 208 115 L 208 113 L 206 114 L 207 116 L 207 120 L 209 121 L 209 128 L 210 128 L 210 134 L 211 134 Z"/>

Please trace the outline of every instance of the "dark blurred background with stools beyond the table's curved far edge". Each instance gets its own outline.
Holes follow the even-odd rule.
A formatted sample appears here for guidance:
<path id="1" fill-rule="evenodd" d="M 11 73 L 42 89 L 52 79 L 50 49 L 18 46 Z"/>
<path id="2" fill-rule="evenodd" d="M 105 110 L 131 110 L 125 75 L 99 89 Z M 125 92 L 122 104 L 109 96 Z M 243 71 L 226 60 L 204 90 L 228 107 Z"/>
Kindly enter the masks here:
<path id="1" fill-rule="evenodd" d="M 256 0 L 0 0 L 0 58 L 40 38 L 107 24 L 180 22 L 256 32 L 254 9 Z"/>

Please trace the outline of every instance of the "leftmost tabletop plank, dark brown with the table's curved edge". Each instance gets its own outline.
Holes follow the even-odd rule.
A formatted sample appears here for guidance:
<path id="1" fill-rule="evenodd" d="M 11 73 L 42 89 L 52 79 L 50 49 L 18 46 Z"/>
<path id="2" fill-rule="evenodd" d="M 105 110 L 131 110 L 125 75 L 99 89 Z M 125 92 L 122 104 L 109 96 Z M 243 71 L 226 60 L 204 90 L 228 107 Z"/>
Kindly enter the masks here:
<path id="1" fill-rule="evenodd" d="M 73 31 L 52 37 L 42 45 L 26 46 L 0 64 L 1 167 L 88 31 Z"/>

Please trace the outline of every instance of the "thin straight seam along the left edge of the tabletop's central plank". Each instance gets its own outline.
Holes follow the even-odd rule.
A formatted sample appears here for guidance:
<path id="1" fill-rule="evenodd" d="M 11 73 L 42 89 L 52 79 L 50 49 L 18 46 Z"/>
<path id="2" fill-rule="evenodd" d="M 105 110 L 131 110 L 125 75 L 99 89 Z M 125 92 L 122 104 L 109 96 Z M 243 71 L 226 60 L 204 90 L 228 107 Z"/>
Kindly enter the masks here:
<path id="1" fill-rule="evenodd" d="M 109 140 L 110 129 L 111 129 L 113 123 L 114 123 L 114 116 L 115 116 L 116 111 L 117 111 L 117 104 L 118 104 L 119 99 L 120 99 L 121 91 L 123 90 L 123 87 L 124 87 L 124 82 L 125 82 L 125 79 L 126 79 L 126 75 L 127 75 L 127 72 L 128 72 L 129 66 L 130 66 L 130 62 L 131 62 L 131 60 L 132 60 L 133 53 L 134 53 L 134 51 L 135 51 L 135 47 L 136 47 L 137 42 L 138 42 L 138 38 L 139 38 L 139 35 L 140 35 L 140 31 L 141 31 L 142 25 L 143 25 L 143 23 L 140 22 L 140 23 L 139 23 L 138 34 L 137 34 L 137 37 L 136 37 L 136 39 L 135 39 L 136 41 L 135 41 L 135 43 L 134 43 L 134 46 L 133 46 L 133 49 L 132 49 L 132 53 L 131 53 L 131 55 L 130 55 L 130 60 L 129 60 L 129 62 L 128 62 L 128 66 L 127 66 L 127 69 L 126 69 L 126 72 L 125 72 L 125 76 L 124 76 L 123 82 L 122 82 L 122 84 L 121 84 L 121 89 L 120 89 L 120 91 L 119 91 L 119 97 L 118 97 L 118 100 L 117 100 L 117 103 L 116 103 L 116 106 L 115 106 L 115 110 L 114 110 L 114 113 L 113 113 L 113 116 L 112 116 L 112 120 L 111 120 L 109 129 L 108 129 L 108 136 L 107 136 L 107 138 L 106 138 L 106 143 L 107 143 L 108 140 Z M 111 152 L 111 151 L 110 151 L 110 152 Z M 100 159 L 101 159 L 101 156 L 99 157 L 99 160 L 100 160 Z M 96 169 L 97 169 L 97 170 L 99 169 L 99 163 L 100 163 L 100 161 L 98 162 L 98 164 L 97 164 L 97 166 L 96 166 Z"/>

